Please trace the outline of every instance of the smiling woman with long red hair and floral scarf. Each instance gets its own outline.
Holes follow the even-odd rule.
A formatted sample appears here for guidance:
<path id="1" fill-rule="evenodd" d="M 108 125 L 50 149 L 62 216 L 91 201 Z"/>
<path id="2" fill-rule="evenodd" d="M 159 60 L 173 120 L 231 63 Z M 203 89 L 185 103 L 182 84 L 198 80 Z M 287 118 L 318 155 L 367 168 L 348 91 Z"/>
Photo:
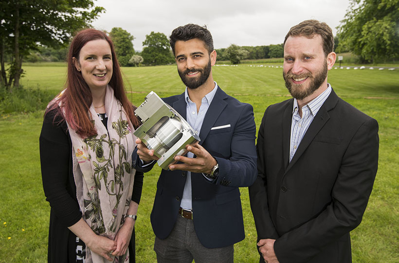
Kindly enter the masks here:
<path id="1" fill-rule="evenodd" d="M 66 88 L 49 103 L 39 139 L 48 262 L 134 262 L 143 173 L 131 153 L 140 123 L 104 32 L 78 32 L 67 62 Z"/>

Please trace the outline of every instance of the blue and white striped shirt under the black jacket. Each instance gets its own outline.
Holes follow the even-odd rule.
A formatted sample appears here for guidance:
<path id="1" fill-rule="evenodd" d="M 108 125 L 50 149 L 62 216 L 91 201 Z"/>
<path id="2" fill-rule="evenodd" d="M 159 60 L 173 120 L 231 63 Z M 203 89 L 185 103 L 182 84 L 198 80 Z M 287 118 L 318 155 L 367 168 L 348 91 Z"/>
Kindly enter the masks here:
<path id="1" fill-rule="evenodd" d="M 327 89 L 316 98 L 311 100 L 308 104 L 302 107 L 302 118 L 298 113 L 298 102 L 294 98 L 294 105 L 292 110 L 291 121 L 291 137 L 290 137 L 290 161 L 298 149 L 306 131 L 312 123 L 314 116 L 326 101 L 328 95 L 331 93 L 331 85 L 327 83 Z"/>

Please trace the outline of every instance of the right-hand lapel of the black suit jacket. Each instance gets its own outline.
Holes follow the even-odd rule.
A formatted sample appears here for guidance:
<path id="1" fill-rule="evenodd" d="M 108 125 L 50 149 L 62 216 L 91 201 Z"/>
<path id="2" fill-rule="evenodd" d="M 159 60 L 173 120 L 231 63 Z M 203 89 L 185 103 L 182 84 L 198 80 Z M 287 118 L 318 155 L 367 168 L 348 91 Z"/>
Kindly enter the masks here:
<path id="1" fill-rule="evenodd" d="M 316 134 L 323 128 L 326 124 L 330 115 L 328 111 L 333 109 L 338 102 L 338 96 L 332 90 L 331 94 L 328 96 L 320 110 L 317 112 L 316 116 L 314 117 L 312 123 L 310 124 L 308 131 L 306 131 L 304 137 L 302 138 L 301 143 L 299 144 L 298 149 L 296 150 L 294 156 L 290 164 L 288 165 L 286 172 L 295 164 L 295 162 L 301 157 L 301 155 L 305 152 L 308 148 L 309 144 L 313 141 Z M 290 141 L 290 140 L 289 140 Z"/>

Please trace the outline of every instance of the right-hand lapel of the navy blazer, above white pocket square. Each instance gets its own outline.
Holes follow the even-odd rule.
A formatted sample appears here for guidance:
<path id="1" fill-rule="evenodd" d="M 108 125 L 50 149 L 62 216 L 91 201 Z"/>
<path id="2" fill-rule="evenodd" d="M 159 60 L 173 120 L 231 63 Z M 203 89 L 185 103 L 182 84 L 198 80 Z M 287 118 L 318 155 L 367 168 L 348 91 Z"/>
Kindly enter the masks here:
<path id="1" fill-rule="evenodd" d="M 227 98 L 227 94 L 224 93 L 224 91 L 222 91 L 218 86 L 218 90 L 215 93 L 211 105 L 209 105 L 208 111 L 205 114 L 205 118 L 201 126 L 200 144 L 202 144 L 206 136 L 208 136 L 209 131 L 215 124 L 220 113 L 227 106 L 227 102 L 224 101 L 225 98 Z"/>

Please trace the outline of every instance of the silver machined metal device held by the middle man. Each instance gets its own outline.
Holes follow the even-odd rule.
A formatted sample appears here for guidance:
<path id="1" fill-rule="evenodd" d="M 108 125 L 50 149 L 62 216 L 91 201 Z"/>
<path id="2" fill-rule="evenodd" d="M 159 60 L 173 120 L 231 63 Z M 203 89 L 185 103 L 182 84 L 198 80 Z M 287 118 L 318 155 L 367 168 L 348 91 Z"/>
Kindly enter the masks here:
<path id="1" fill-rule="evenodd" d="M 175 163 L 176 155 L 184 155 L 187 144 L 195 144 L 200 137 L 181 115 L 163 102 L 155 93 L 150 92 L 145 101 L 134 111 L 142 125 L 134 131 L 149 150 L 159 158 L 158 165 L 168 169 Z"/>

